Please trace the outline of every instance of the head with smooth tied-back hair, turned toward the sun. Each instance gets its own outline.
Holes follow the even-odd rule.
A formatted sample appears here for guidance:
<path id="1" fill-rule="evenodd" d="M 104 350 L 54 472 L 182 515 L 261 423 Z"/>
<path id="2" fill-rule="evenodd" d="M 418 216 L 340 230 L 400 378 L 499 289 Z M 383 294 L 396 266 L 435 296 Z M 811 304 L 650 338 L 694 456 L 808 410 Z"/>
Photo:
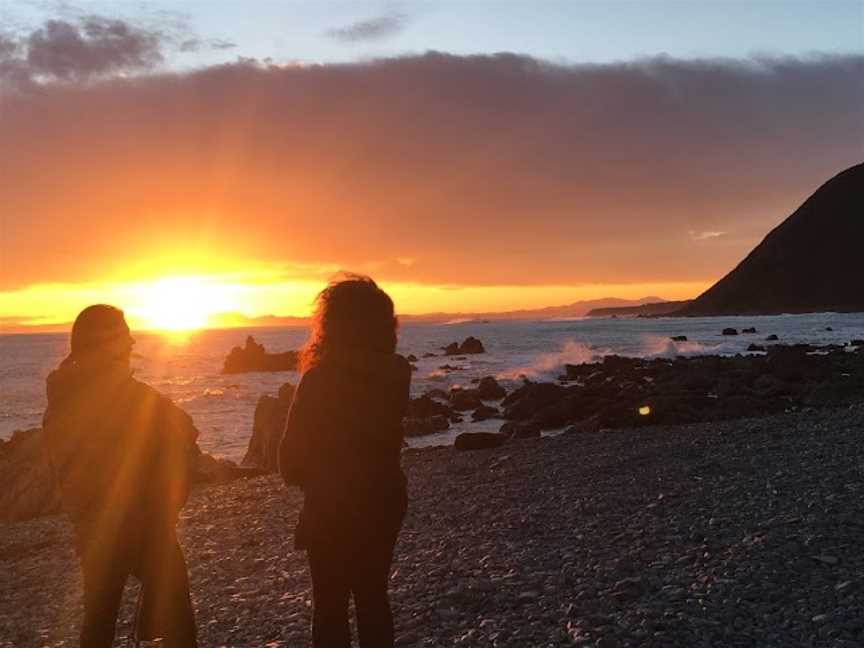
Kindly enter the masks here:
<path id="1" fill-rule="evenodd" d="M 78 314 L 72 325 L 69 358 L 88 364 L 129 365 L 135 340 L 123 311 L 96 304 Z"/>

